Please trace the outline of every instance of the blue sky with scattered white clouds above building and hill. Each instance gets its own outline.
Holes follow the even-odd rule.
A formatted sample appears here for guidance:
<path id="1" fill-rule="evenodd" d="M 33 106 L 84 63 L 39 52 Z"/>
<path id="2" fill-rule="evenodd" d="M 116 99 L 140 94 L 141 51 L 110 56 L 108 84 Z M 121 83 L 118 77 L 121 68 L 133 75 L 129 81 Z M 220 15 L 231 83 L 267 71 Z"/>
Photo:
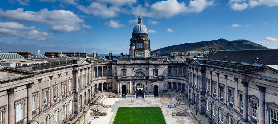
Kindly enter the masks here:
<path id="1" fill-rule="evenodd" d="M 129 54 L 140 12 L 151 50 L 220 38 L 278 48 L 278 0 L 2 0 L 0 51 Z"/>

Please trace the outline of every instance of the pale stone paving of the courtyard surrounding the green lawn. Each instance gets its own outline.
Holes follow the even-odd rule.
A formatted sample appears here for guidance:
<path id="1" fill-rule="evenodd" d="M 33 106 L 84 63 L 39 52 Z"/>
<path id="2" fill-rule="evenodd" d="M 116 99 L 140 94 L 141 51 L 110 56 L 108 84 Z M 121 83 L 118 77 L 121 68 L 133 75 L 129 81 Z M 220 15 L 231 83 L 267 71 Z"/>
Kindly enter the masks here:
<path id="1" fill-rule="evenodd" d="M 97 124 L 111 124 L 114 121 L 119 107 L 160 107 L 167 124 L 192 124 L 191 119 L 187 116 L 172 116 L 172 112 L 170 108 L 168 108 L 168 105 L 177 103 L 176 99 L 174 98 L 147 99 L 150 100 L 151 103 L 144 102 L 143 98 L 140 97 L 133 103 L 128 103 L 128 100 L 131 100 L 131 98 L 106 98 L 103 100 L 103 103 L 106 105 L 111 105 L 111 108 L 109 108 L 107 111 L 107 116 L 98 116 L 99 118 L 94 120 L 92 120 L 92 117 L 90 117 L 88 122 L 91 121 L 91 123 Z"/>

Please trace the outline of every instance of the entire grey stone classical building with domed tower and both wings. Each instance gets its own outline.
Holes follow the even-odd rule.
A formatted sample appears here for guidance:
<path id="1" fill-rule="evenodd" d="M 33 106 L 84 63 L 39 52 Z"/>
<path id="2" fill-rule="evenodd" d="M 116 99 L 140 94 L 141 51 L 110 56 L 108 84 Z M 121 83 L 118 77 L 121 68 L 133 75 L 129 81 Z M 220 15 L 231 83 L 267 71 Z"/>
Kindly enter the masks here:
<path id="1" fill-rule="evenodd" d="M 141 16 L 130 42 L 130 55 L 120 57 L 94 52 L 90 59 L 0 66 L 0 123 L 67 123 L 95 91 L 131 95 L 139 88 L 154 96 L 185 93 L 191 109 L 216 124 L 277 123 L 278 49 L 211 51 L 188 61 L 151 56 Z"/>

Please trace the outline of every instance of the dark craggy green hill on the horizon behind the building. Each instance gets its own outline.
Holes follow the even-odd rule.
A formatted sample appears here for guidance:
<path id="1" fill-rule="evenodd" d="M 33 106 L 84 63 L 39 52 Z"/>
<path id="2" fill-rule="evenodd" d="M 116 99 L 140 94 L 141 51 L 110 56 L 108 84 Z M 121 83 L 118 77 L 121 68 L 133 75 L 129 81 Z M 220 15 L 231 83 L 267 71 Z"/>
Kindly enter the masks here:
<path id="1" fill-rule="evenodd" d="M 169 55 L 170 52 L 186 52 L 186 51 L 198 51 L 209 50 L 209 48 L 216 48 L 216 50 L 240 50 L 240 49 L 268 49 L 262 45 L 256 44 L 248 40 L 234 40 L 228 41 L 226 39 L 218 39 L 213 41 L 201 41 L 196 43 L 185 43 L 180 45 L 172 45 L 160 49 L 151 51 L 157 53 L 160 51 L 160 55 Z"/>

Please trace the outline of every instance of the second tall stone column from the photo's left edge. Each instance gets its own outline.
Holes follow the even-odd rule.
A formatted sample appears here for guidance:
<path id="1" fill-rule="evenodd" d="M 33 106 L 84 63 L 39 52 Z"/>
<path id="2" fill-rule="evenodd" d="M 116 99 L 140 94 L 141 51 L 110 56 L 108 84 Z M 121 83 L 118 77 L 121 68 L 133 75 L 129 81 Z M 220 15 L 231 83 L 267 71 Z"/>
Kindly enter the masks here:
<path id="1" fill-rule="evenodd" d="M 32 85 L 33 84 L 34 84 L 34 82 L 28 83 L 26 85 L 26 87 L 27 87 L 27 124 L 31 124 L 32 122 L 34 122 L 32 120 Z"/>

